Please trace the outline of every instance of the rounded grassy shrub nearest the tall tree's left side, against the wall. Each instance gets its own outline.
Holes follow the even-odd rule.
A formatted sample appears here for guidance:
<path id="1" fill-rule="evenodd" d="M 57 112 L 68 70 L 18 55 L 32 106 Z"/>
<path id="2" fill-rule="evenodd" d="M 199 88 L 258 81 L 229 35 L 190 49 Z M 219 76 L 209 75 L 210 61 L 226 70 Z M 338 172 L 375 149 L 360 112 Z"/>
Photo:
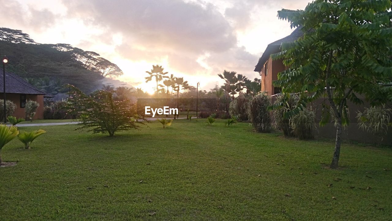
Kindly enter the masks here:
<path id="1" fill-rule="evenodd" d="M 316 113 L 312 109 L 306 108 L 298 114 L 290 117 L 290 127 L 295 136 L 300 140 L 314 139 L 316 130 Z"/>

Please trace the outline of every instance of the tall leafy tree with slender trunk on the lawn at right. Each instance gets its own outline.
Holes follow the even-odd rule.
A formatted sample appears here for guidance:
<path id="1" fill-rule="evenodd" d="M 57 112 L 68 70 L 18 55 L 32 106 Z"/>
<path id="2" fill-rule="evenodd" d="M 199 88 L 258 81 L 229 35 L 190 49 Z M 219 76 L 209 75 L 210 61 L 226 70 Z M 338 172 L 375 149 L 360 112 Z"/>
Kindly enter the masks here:
<path id="1" fill-rule="evenodd" d="M 338 168 L 342 124 L 348 121 L 347 99 L 361 103 L 360 94 L 372 105 L 392 100 L 392 87 L 384 86 L 392 79 L 390 7 L 390 0 L 315 0 L 303 11 L 278 11 L 279 18 L 301 27 L 305 35 L 298 42 L 282 44 L 283 51 L 272 55 L 290 67 L 279 73 L 274 84 L 286 97 L 300 93 L 298 106 L 287 116 L 327 97 L 325 105 L 336 119 L 330 168 Z"/>

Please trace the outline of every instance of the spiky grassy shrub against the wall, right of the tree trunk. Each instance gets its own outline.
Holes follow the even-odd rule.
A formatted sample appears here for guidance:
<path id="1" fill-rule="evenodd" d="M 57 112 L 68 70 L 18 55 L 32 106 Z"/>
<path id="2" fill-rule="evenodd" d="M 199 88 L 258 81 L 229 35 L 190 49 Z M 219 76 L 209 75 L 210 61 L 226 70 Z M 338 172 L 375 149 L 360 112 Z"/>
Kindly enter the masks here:
<path id="1" fill-rule="evenodd" d="M 372 133 L 379 141 L 382 141 L 383 135 L 387 134 L 388 126 L 391 125 L 391 114 L 392 110 L 385 108 L 385 105 L 366 108 L 363 113 L 357 114 L 359 128 Z"/>

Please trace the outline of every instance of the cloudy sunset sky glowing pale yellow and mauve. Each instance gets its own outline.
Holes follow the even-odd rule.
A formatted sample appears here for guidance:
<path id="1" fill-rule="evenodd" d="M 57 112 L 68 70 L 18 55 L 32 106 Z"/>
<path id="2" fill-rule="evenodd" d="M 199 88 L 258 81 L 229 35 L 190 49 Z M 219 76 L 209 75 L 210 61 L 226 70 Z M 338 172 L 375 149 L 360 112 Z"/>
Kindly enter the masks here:
<path id="1" fill-rule="evenodd" d="M 0 0 L 3 27 L 38 43 L 67 43 L 95 51 L 124 72 L 118 80 L 147 92 L 145 71 L 161 64 L 208 90 L 224 69 L 249 79 L 270 42 L 289 35 L 282 8 L 308 0 Z"/>

